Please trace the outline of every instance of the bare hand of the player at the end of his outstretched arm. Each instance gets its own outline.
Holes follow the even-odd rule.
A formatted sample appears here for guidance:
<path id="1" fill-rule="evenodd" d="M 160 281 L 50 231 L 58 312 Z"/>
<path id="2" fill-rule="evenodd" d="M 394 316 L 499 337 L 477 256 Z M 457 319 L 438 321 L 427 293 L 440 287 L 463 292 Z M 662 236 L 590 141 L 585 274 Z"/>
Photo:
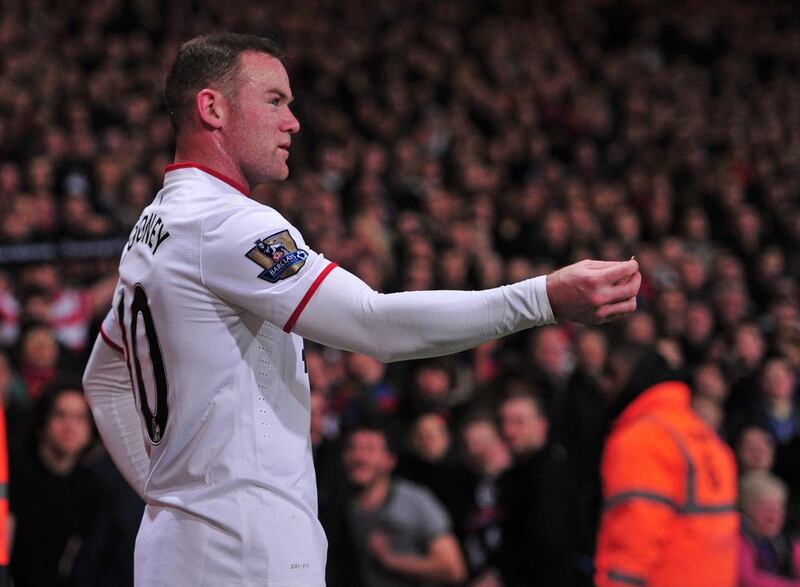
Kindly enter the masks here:
<path id="1" fill-rule="evenodd" d="M 581 261 L 547 276 L 547 296 L 559 321 L 600 324 L 636 310 L 639 263 Z"/>

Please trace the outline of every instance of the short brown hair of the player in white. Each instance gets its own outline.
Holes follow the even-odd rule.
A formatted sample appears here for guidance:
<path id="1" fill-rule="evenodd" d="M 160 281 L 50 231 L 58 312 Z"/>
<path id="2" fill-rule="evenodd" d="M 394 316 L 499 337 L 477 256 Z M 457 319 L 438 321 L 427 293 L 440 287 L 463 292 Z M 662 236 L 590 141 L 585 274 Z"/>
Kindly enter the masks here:
<path id="1" fill-rule="evenodd" d="M 272 39 L 239 33 L 214 33 L 186 41 L 178 49 L 164 87 L 164 100 L 177 133 L 192 111 L 197 92 L 216 84 L 222 92 L 234 90 L 239 55 L 266 53 L 276 59 L 283 50 Z"/>

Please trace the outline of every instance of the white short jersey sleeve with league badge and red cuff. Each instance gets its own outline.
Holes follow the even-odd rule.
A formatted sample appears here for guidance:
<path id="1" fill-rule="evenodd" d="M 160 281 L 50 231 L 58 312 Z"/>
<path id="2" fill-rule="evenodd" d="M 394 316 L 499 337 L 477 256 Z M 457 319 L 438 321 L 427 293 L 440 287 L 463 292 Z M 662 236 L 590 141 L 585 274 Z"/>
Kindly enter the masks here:
<path id="1" fill-rule="evenodd" d="M 230 304 L 290 332 L 336 266 L 314 252 L 277 212 L 242 208 L 207 221 L 201 236 L 203 284 Z"/>

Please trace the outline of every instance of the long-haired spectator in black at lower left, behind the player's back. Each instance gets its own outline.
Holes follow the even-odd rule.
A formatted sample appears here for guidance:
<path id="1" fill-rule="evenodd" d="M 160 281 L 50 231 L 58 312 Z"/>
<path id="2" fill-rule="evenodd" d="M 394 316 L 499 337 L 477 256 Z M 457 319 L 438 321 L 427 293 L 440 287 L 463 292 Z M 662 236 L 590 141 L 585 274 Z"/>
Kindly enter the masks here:
<path id="1" fill-rule="evenodd" d="M 35 416 L 33 454 L 11 472 L 11 577 L 19 587 L 58 587 L 70 584 L 97 512 L 96 480 L 79 462 L 92 439 L 92 421 L 83 393 L 70 386 L 44 392 Z"/>

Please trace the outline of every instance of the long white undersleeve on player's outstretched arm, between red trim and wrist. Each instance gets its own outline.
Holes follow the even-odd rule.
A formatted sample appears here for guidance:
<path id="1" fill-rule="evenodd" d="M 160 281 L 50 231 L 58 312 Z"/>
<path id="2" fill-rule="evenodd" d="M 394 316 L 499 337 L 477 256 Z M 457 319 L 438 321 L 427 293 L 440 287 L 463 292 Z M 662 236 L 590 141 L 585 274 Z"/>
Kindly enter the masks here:
<path id="1" fill-rule="evenodd" d="M 546 276 L 482 291 L 380 294 L 337 267 L 294 331 L 384 362 L 447 355 L 553 323 Z"/>

